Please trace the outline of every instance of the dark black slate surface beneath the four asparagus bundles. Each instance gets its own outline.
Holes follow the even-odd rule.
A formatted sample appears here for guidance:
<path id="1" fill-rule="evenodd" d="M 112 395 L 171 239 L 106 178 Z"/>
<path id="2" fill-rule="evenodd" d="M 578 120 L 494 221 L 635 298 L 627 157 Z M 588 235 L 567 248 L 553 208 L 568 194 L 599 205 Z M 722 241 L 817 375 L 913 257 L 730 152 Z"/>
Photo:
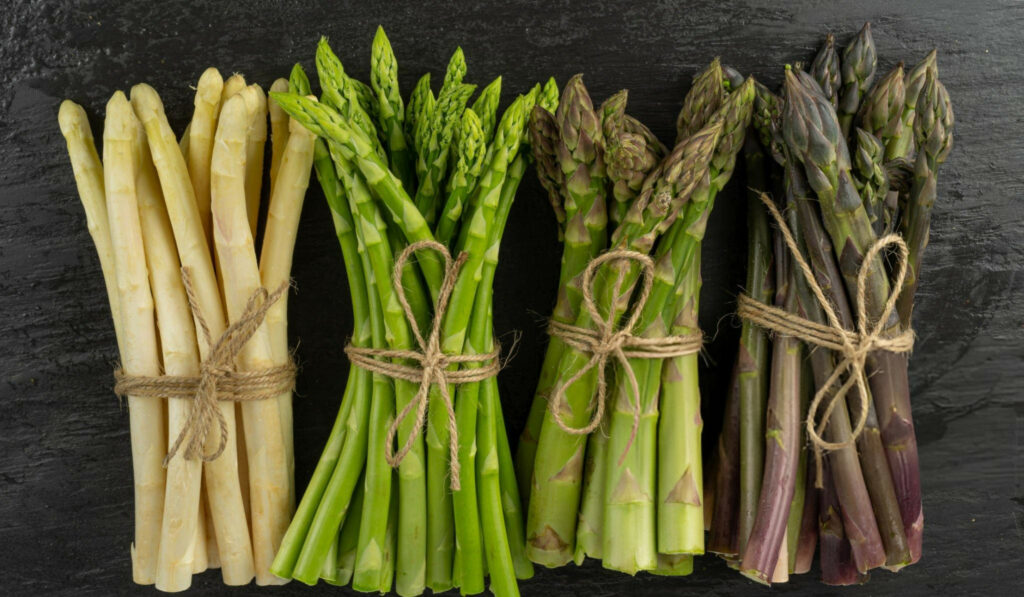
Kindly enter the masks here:
<path id="1" fill-rule="evenodd" d="M 131 475 L 127 413 L 111 393 L 116 358 L 98 263 L 56 126 L 60 99 L 100 124 L 115 89 L 146 81 L 178 131 L 189 85 L 210 65 L 268 85 L 295 60 L 311 67 L 321 34 L 365 77 L 374 28 L 394 43 L 406 90 L 443 69 L 457 44 L 469 78 L 505 76 L 523 90 L 555 75 L 587 74 L 600 100 L 631 90 L 630 111 L 670 137 L 692 75 L 715 55 L 777 84 L 779 67 L 809 59 L 827 31 L 847 39 L 874 24 L 882 69 L 940 48 L 955 102 L 956 147 L 942 171 L 932 246 L 919 293 L 910 381 L 923 464 L 925 559 L 878 572 L 845 594 L 1008 594 L 1024 581 L 1024 208 L 1020 198 L 1020 59 L 1024 7 L 1001 2 L 892 2 L 856 7 L 801 0 L 748 2 L 467 3 L 460 8 L 370 3 L 258 2 L 152 6 L 13 0 L 0 13 L 0 593 L 146 593 L 131 585 Z M 97 128 L 98 130 L 98 128 Z M 732 308 L 743 260 L 736 185 L 712 218 L 701 323 L 715 336 L 703 382 L 708 436 L 735 345 Z M 324 442 L 345 379 L 349 307 L 328 210 L 310 193 L 291 302 L 302 374 L 296 401 L 298 483 Z M 502 376 L 518 433 L 553 301 L 558 244 L 534 180 L 523 184 L 499 271 L 499 330 L 524 332 Z M 589 565 L 540 571 L 526 595 L 762 595 L 702 558 L 688 579 L 628 577 Z M 772 591 L 838 594 L 801 578 Z M 197 594 L 228 593 L 216 572 Z M 258 594 L 256 588 L 233 594 Z M 293 585 L 268 593 L 337 593 Z"/>

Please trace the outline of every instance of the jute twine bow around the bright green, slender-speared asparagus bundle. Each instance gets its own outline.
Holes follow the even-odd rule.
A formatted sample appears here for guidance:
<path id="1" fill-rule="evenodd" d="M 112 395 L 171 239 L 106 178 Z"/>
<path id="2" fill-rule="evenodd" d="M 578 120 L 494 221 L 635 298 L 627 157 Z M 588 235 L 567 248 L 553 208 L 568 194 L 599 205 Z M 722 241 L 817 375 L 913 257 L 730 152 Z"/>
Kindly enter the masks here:
<path id="1" fill-rule="evenodd" d="M 439 253 L 444 258 L 444 276 L 441 279 L 441 288 L 437 293 L 437 303 L 434 306 L 434 318 L 430 326 L 429 335 L 424 338 L 423 332 L 416 323 L 416 315 L 413 313 L 409 301 L 406 299 L 406 290 L 401 284 L 401 272 L 406 262 L 417 251 L 429 249 Z M 495 342 L 495 347 L 490 352 L 483 354 L 445 354 L 441 351 L 441 327 L 444 323 L 444 313 L 447 311 L 449 300 L 452 298 L 452 291 L 455 290 L 456 282 L 459 279 L 459 271 L 466 263 L 469 255 L 462 253 L 457 259 L 452 259 L 452 254 L 447 248 L 435 241 L 419 241 L 413 243 L 398 255 L 394 260 L 394 270 L 391 272 L 391 284 L 394 288 L 395 296 L 401 304 L 402 312 L 409 327 L 413 330 L 419 350 L 403 350 L 389 348 L 368 348 L 348 344 L 345 353 L 353 365 L 367 371 L 377 373 L 393 379 L 400 379 L 413 383 L 419 383 L 420 388 L 416 396 L 398 413 L 391 426 L 387 430 L 387 441 L 384 458 L 391 467 L 397 467 L 413 449 L 416 438 L 423 433 L 427 419 L 427 404 L 430 401 L 430 386 L 437 384 L 441 403 L 447 414 L 449 431 L 449 470 L 452 475 L 452 488 L 458 491 L 461 487 L 459 482 L 459 428 L 455 419 L 455 407 L 452 401 L 452 393 L 449 386 L 480 382 L 498 375 L 501 364 L 498 360 L 501 354 L 501 347 Z M 382 358 L 408 359 L 416 365 L 402 365 Z M 475 369 L 453 369 L 450 366 L 464 364 L 477 364 L 480 367 Z M 416 409 L 416 423 L 413 431 L 406 438 L 406 442 L 398 452 L 394 452 L 395 436 L 398 427 Z"/>

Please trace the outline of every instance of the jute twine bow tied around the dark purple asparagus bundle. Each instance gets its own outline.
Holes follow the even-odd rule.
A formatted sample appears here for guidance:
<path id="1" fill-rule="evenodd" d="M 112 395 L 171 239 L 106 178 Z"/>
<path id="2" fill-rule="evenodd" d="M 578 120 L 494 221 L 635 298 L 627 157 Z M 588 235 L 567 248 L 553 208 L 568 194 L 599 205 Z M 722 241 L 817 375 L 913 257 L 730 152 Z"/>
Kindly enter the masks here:
<path id="1" fill-rule="evenodd" d="M 768 213 L 775 219 L 779 233 L 785 241 L 794 262 L 800 267 L 800 271 L 807 281 L 814 298 L 821 305 L 822 310 L 828 318 L 828 325 L 811 322 L 771 305 L 766 305 L 745 294 L 739 295 L 737 314 L 743 319 L 748 319 L 766 330 L 771 330 L 778 334 L 799 338 L 804 342 L 836 351 L 841 358 L 836 365 L 825 383 L 818 388 L 807 410 L 807 420 L 805 426 L 807 435 L 814 449 L 814 465 L 817 471 L 815 484 L 821 487 L 821 458 L 825 452 L 842 450 L 852 446 L 860 434 L 864 431 L 867 423 L 867 411 L 870 407 L 870 396 L 867 393 L 867 376 L 864 366 L 867 355 L 874 350 L 888 350 L 890 352 L 909 352 L 913 349 L 913 331 L 903 330 L 894 336 L 885 334 L 886 323 L 892 315 L 896 307 L 896 300 L 899 298 L 900 289 L 903 288 L 903 280 L 906 278 L 907 257 L 909 250 L 906 243 L 899 234 L 886 234 L 874 242 L 864 255 L 864 260 L 857 271 L 857 292 L 855 294 L 855 318 L 857 329 L 847 330 L 840 323 L 836 310 L 833 308 L 821 287 L 818 286 L 811 266 L 804 259 L 804 256 L 793 237 L 793 232 L 785 224 L 785 219 L 775 207 L 774 202 L 767 195 L 761 196 L 761 202 L 768 208 Z M 886 300 L 878 319 L 873 323 L 867 312 L 867 278 L 871 273 L 871 264 L 879 258 L 879 254 L 889 247 L 895 247 L 898 255 L 896 263 L 896 279 L 892 282 L 893 290 Z M 846 375 L 846 381 L 841 382 Z M 838 386 L 836 392 L 829 396 L 833 387 Z M 857 425 L 851 435 L 843 441 L 827 441 L 822 437 L 833 411 L 838 404 L 842 404 L 843 398 L 851 388 L 857 388 L 858 412 Z M 824 406 L 824 413 L 818 417 L 818 411 Z"/>

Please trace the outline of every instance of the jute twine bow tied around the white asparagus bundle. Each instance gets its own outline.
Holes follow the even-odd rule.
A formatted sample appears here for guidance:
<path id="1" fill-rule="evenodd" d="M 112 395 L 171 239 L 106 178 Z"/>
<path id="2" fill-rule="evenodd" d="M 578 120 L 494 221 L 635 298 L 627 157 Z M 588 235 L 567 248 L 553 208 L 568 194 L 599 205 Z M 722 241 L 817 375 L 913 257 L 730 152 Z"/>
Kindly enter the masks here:
<path id="1" fill-rule="evenodd" d="M 187 267 L 181 268 L 181 281 L 188 297 L 193 317 L 210 351 L 200 364 L 199 376 L 139 376 L 122 370 L 114 372 L 114 392 L 119 396 L 152 398 L 179 398 L 191 400 L 188 418 L 174 439 L 171 450 L 164 457 L 164 466 L 184 446 L 187 460 L 204 462 L 217 460 L 227 446 L 227 422 L 217 401 L 248 402 L 266 400 L 290 392 L 295 387 L 295 363 L 257 371 L 234 371 L 234 360 L 243 346 L 262 325 L 267 311 L 288 292 L 290 283 L 284 282 L 272 293 L 265 288 L 256 289 L 249 297 L 241 316 L 224 330 L 214 343 L 210 328 L 200 308 Z M 205 445 L 213 421 L 220 428 L 217 450 L 206 454 Z"/>

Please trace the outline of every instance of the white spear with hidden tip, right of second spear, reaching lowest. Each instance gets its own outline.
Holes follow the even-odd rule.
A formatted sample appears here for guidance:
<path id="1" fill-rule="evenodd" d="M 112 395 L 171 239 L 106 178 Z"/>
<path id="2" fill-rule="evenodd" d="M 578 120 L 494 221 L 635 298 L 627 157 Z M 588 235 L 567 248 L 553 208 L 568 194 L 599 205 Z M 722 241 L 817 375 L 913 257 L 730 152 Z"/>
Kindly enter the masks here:
<path id="1" fill-rule="evenodd" d="M 138 174 L 135 177 L 135 190 L 138 198 L 138 218 L 144 239 L 150 287 L 157 308 L 157 329 L 164 373 L 196 376 L 199 375 L 199 345 L 188 298 L 181 283 L 181 264 L 174 245 L 174 232 L 164 206 L 157 170 L 150 157 L 145 130 L 137 121 L 136 126 L 135 159 Z M 168 401 L 168 437 L 165 443 L 168 450 L 184 428 L 190 409 L 190 400 L 173 398 Z M 167 454 L 166 450 L 164 454 Z M 157 589 L 176 592 L 184 591 L 191 585 L 203 463 L 178 455 L 167 463 L 166 470 Z"/>

